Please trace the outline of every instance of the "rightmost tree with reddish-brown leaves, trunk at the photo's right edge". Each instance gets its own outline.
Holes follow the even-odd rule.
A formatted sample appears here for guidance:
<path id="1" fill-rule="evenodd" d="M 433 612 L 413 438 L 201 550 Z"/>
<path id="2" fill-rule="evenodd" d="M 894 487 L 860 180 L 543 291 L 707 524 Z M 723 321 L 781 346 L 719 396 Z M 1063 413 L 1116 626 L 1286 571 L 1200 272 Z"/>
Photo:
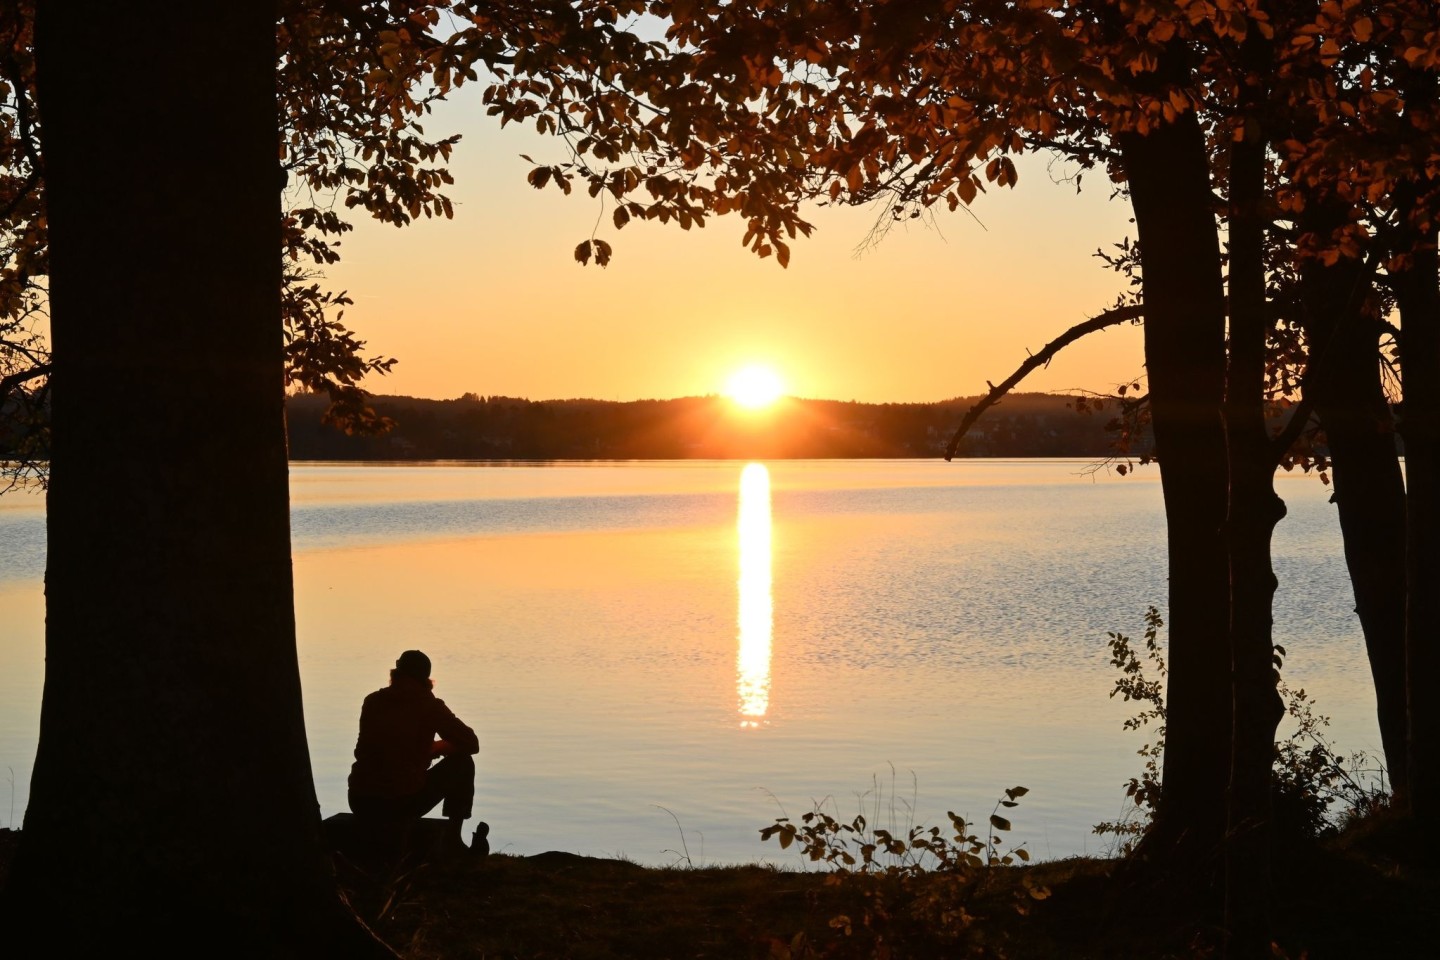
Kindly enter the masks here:
<path id="1" fill-rule="evenodd" d="M 1436 750 L 1440 711 L 1430 697 L 1440 668 L 1433 640 L 1440 579 L 1436 560 L 1440 485 L 1434 459 L 1440 438 L 1434 426 L 1440 410 L 1436 402 L 1440 396 L 1440 337 L 1436 335 L 1440 180 L 1433 161 L 1440 137 L 1436 96 L 1440 13 L 1426 0 L 1365 4 L 1331 0 L 1313 7 L 1312 22 L 1292 43 L 1312 52 L 1326 72 L 1308 78 L 1306 125 L 1283 144 L 1286 189 L 1289 206 L 1319 210 L 1310 223 L 1315 229 L 1300 237 L 1300 245 L 1332 268 L 1364 259 L 1367 268 L 1361 282 L 1377 276 L 1375 284 L 1388 289 L 1401 318 L 1395 340 L 1403 397 L 1397 429 L 1405 445 L 1404 508 L 1390 507 L 1377 527 L 1392 531 L 1398 515 L 1405 528 L 1405 692 L 1403 724 L 1390 710 L 1381 727 L 1392 741 L 1397 727 L 1403 725 L 1403 757 L 1397 759 L 1387 743 L 1387 757 L 1401 787 L 1397 800 L 1433 841 L 1440 812 L 1440 751 Z M 1341 328 L 1329 340 L 1344 341 L 1351 335 L 1372 343 L 1374 317 L 1351 312 L 1341 318 Z M 1348 334 L 1346 328 L 1359 332 Z M 1333 376 L 1323 368 L 1320 373 L 1322 381 Z M 1359 402 L 1365 403 L 1364 396 Z M 1394 481 L 1384 481 L 1384 489 L 1392 491 Z M 1392 533 L 1387 534 L 1387 544 L 1392 564 L 1401 554 L 1401 544 Z M 1377 658 L 1377 652 L 1381 656 Z M 1377 672 L 1382 710 L 1395 699 L 1398 659 L 1391 645 L 1372 649 L 1372 661 L 1385 666 L 1384 675 Z"/>

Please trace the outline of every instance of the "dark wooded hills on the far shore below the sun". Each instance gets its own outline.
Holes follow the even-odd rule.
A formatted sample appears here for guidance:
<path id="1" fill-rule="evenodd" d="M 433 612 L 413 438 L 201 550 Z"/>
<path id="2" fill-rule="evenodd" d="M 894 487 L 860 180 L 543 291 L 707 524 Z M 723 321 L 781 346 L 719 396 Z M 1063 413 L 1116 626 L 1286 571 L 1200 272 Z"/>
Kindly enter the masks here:
<path id="1" fill-rule="evenodd" d="M 523 400 L 467 393 L 454 400 L 372 397 L 395 422 L 383 435 L 347 435 L 321 422 L 323 394 L 291 396 L 297 461 L 395 459 L 707 459 L 940 456 L 978 397 L 939 403 L 786 399 L 743 410 L 724 397 Z M 1093 456 L 1115 452 L 1107 404 L 1021 393 L 986 413 L 960 456 Z M 1132 442 L 1143 455 L 1149 438 Z"/>

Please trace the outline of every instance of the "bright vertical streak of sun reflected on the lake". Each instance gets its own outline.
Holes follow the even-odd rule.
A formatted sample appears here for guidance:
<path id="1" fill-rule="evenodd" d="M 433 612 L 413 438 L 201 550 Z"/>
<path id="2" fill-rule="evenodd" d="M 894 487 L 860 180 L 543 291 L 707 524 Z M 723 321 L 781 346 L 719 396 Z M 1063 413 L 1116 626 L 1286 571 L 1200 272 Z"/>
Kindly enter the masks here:
<path id="1" fill-rule="evenodd" d="M 770 472 L 749 463 L 740 472 L 740 653 L 736 689 L 740 725 L 759 727 L 770 710 Z"/>

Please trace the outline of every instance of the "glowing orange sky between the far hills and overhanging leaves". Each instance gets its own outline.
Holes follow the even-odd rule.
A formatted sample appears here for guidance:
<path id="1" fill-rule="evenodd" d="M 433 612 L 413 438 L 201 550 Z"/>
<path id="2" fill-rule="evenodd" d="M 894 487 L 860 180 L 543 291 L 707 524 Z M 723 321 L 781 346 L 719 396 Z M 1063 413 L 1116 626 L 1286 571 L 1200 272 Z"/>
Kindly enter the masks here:
<path id="1" fill-rule="evenodd" d="M 1090 256 L 1133 236 L 1129 204 L 1110 200 L 1100 171 L 1077 196 L 1034 158 L 1018 187 L 976 201 L 979 222 L 942 213 L 858 255 L 874 212 L 815 210 L 815 235 L 796 239 L 780 269 L 740 246 L 736 217 L 688 233 L 638 222 L 616 232 L 611 207 L 582 191 L 530 189 L 520 154 L 562 154 L 498 130 L 478 92 L 464 88 L 426 124 L 465 137 L 451 166 L 455 219 L 359 223 L 328 269 L 356 301 L 346 322 L 400 360 L 366 383 L 376 393 L 668 399 L 720 393 L 737 367 L 765 363 L 792 396 L 933 402 L 984 391 L 1122 289 Z M 615 259 L 582 268 L 572 249 L 598 220 Z M 1106 390 L 1140 364 L 1139 330 L 1112 330 L 1025 389 Z"/>

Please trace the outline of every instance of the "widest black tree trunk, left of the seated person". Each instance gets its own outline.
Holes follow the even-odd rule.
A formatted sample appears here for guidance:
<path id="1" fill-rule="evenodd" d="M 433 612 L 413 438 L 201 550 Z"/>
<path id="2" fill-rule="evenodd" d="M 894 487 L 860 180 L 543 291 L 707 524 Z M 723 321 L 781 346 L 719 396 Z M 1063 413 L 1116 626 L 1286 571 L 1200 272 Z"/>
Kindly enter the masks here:
<path id="1" fill-rule="evenodd" d="M 55 443 L 23 956 L 379 946 L 336 892 L 301 714 L 275 22 L 39 7 Z"/>

